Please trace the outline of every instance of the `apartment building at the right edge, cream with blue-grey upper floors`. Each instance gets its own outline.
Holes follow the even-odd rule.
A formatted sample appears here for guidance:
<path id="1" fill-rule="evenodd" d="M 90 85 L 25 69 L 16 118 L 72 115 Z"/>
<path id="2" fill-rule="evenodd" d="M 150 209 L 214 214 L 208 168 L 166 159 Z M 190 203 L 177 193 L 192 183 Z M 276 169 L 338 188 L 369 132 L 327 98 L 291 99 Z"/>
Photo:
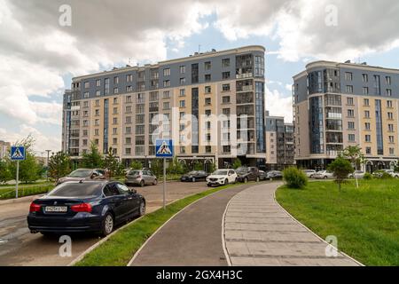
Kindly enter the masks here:
<path id="1" fill-rule="evenodd" d="M 325 169 L 346 146 L 361 146 L 367 171 L 399 159 L 399 70 L 317 61 L 293 77 L 295 159 Z"/>

